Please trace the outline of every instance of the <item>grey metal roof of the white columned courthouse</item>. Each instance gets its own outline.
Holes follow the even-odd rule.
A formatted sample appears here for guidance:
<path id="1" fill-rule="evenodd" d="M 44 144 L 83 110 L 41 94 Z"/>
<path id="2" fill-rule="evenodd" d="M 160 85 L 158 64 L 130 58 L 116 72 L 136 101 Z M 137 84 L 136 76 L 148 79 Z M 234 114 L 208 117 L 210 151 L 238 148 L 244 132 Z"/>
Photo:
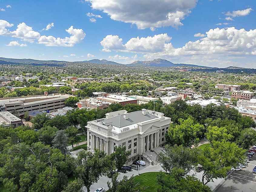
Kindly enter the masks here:
<path id="1" fill-rule="evenodd" d="M 126 116 L 128 116 L 127 120 L 124 118 L 124 115 L 119 115 L 107 120 L 102 120 L 101 122 L 105 122 L 104 125 L 106 126 L 113 125 L 115 127 L 120 128 L 120 127 L 129 126 L 135 123 L 158 118 L 158 116 L 155 116 L 150 113 L 146 113 L 146 115 L 143 115 L 142 111 L 131 112 L 126 114 Z"/>

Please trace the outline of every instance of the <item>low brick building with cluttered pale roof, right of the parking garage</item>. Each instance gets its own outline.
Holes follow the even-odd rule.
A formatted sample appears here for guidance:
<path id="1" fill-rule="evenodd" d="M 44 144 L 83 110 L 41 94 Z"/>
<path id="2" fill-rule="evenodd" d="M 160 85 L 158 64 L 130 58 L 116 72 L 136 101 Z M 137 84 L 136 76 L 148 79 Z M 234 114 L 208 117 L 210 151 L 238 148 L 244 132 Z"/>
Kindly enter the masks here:
<path id="1" fill-rule="evenodd" d="M 77 103 L 78 108 L 88 109 L 106 109 L 111 105 L 111 102 L 98 100 L 95 98 L 83 99 Z"/>

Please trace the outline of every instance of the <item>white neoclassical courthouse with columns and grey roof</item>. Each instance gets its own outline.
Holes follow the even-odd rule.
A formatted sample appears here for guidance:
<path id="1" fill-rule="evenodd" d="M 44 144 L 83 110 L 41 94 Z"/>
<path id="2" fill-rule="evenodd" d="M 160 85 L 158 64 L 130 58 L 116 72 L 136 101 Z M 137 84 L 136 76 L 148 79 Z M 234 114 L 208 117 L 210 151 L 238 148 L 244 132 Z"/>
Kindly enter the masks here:
<path id="1" fill-rule="evenodd" d="M 106 113 L 106 118 L 88 122 L 87 149 L 104 150 L 109 155 L 115 146 L 126 146 L 126 150 L 131 150 L 128 162 L 145 160 L 145 153 L 165 145 L 170 123 L 171 118 L 164 113 L 147 109 Z"/>

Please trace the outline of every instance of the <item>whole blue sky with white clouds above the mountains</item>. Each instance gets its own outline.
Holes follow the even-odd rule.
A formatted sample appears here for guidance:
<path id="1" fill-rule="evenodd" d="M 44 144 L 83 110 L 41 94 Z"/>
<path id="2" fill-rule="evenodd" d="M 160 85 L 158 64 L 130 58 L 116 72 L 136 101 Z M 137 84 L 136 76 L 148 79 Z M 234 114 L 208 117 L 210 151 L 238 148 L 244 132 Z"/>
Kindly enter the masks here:
<path id="1" fill-rule="evenodd" d="M 162 58 L 256 68 L 255 5 L 255 0 L 0 0 L 0 57 L 125 64 Z"/>

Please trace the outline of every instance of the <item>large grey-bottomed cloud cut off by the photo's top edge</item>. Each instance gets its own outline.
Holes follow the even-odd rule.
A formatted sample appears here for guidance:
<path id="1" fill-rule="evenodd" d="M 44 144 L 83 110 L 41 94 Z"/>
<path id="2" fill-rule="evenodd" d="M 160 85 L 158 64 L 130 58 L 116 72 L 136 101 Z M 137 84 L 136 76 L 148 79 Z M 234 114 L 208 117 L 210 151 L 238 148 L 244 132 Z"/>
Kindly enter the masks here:
<path id="1" fill-rule="evenodd" d="M 138 29 L 179 27 L 198 0 L 86 0 L 93 9 L 102 10 L 117 21 L 132 23 Z"/>

